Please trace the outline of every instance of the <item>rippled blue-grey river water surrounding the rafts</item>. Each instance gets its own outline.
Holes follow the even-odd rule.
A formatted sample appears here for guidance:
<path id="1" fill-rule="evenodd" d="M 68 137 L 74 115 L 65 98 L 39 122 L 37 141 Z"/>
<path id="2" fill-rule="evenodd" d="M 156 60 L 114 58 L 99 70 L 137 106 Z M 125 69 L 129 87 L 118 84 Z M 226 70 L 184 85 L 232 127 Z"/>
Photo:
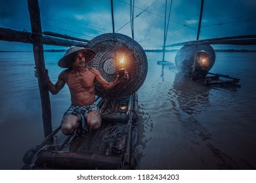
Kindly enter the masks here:
<path id="1" fill-rule="evenodd" d="M 165 59 L 174 63 L 176 52 Z M 63 52 L 46 52 L 56 82 Z M 256 53 L 217 52 L 211 73 L 240 78 L 241 88 L 209 88 L 157 64 L 139 89 L 137 169 L 256 169 Z M 43 141 L 32 52 L 0 53 L 0 169 L 21 169 L 26 151 Z M 67 86 L 50 95 L 53 128 L 70 105 Z"/>

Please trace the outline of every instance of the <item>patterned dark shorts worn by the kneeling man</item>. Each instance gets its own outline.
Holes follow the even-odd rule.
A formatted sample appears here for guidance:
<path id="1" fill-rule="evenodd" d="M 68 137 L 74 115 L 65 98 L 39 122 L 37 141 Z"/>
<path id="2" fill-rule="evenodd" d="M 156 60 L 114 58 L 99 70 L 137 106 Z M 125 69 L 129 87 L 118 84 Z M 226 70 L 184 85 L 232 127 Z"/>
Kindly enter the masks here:
<path id="1" fill-rule="evenodd" d="M 64 116 L 67 114 L 72 114 L 74 116 L 77 116 L 79 120 L 82 122 L 83 129 L 86 129 L 87 123 L 85 122 L 85 116 L 87 116 L 87 114 L 89 114 L 89 112 L 91 112 L 92 110 L 100 111 L 100 109 L 95 103 L 93 103 L 92 105 L 85 105 L 85 106 L 70 105 L 68 110 L 66 110 L 66 112 L 64 113 Z"/>

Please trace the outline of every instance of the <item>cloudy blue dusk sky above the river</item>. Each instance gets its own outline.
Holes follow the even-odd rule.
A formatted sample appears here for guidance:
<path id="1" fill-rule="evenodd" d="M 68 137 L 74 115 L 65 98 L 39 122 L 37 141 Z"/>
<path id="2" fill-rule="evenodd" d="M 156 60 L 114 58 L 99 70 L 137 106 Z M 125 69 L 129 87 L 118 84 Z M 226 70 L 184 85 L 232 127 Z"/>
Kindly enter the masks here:
<path id="1" fill-rule="evenodd" d="M 134 2 L 134 39 L 144 49 L 162 49 L 165 25 L 165 0 L 131 0 Z M 31 32 L 26 0 L 0 0 L 0 27 Z M 112 33 L 110 0 L 39 0 L 42 31 L 72 37 L 93 39 Z M 132 37 L 129 0 L 113 0 L 114 29 Z M 171 6 L 170 6 L 171 5 Z M 171 8 L 170 8 L 171 7 Z M 166 45 L 196 40 L 201 0 L 167 0 Z M 167 25 L 167 24 L 166 24 Z M 205 0 L 199 39 L 256 34 L 255 0 Z M 213 48 L 245 48 L 255 46 L 212 45 Z M 168 47 L 177 49 L 179 47 Z M 47 46 L 44 49 L 67 49 Z M 32 50 L 32 44 L 0 41 L 0 51 Z"/>

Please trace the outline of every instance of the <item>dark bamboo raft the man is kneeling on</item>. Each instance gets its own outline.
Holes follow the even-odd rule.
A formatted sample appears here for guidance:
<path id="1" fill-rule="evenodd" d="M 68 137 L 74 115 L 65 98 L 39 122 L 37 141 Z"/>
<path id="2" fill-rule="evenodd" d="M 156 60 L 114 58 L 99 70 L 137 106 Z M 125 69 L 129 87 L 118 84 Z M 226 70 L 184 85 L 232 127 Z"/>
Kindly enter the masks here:
<path id="1" fill-rule="evenodd" d="M 66 136 L 60 127 L 26 152 L 22 169 L 135 169 L 137 92 L 110 101 L 98 97 L 102 126 Z"/>

